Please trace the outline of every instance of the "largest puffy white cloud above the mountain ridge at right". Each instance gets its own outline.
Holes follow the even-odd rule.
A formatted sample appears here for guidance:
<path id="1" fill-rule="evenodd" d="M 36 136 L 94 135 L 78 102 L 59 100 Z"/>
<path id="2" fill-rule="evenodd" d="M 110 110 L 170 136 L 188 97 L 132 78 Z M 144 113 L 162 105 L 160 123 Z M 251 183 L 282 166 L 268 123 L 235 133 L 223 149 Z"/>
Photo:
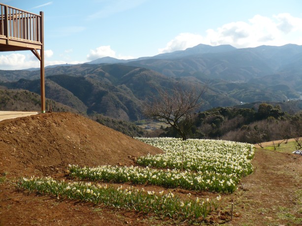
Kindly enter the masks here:
<path id="1" fill-rule="evenodd" d="M 250 20 L 231 22 L 216 29 L 208 29 L 206 35 L 181 33 L 158 49 L 158 53 L 184 50 L 200 43 L 212 46 L 229 44 L 237 48 L 261 45 L 281 46 L 288 43 L 302 45 L 302 18 L 289 13 L 272 17 L 255 15 Z"/>

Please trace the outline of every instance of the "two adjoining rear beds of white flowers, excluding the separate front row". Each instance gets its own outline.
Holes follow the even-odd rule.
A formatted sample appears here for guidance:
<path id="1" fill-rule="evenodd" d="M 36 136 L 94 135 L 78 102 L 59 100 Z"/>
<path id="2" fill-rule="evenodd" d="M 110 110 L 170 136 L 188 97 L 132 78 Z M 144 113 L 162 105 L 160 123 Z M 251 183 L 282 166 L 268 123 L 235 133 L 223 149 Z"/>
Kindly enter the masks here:
<path id="1" fill-rule="evenodd" d="M 71 176 L 103 182 L 148 183 L 169 188 L 231 193 L 235 191 L 240 177 L 252 172 L 252 144 L 174 138 L 138 140 L 161 148 L 164 154 L 139 158 L 137 164 L 144 167 L 81 168 L 73 165 L 70 166 Z M 182 162 L 184 171 L 180 170 Z"/>

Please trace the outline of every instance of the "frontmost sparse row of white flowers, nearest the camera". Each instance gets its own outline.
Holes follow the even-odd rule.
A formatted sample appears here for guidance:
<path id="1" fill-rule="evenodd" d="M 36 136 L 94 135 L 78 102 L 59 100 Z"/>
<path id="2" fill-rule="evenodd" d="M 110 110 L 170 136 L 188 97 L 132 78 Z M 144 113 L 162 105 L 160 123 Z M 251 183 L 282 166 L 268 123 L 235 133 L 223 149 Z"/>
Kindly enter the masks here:
<path id="1" fill-rule="evenodd" d="M 132 209 L 143 213 L 153 212 L 158 216 L 175 219 L 199 219 L 201 217 L 205 219 L 211 211 L 217 210 L 221 198 L 218 196 L 211 200 L 209 198 L 201 200 L 197 197 L 192 200 L 188 194 L 187 198 L 181 200 L 171 192 L 165 194 L 162 191 L 156 194 L 133 187 L 123 189 L 122 186 L 114 188 L 90 182 L 67 183 L 56 181 L 51 177 L 21 178 L 18 186 L 31 192 L 53 195 L 57 198 L 90 201 L 95 204 Z"/>

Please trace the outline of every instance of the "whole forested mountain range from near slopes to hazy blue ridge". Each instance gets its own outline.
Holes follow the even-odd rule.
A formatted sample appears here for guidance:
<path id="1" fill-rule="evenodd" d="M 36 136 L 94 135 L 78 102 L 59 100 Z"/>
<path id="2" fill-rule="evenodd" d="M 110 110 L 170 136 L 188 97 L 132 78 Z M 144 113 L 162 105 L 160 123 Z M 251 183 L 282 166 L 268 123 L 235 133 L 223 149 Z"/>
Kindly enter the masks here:
<path id="1" fill-rule="evenodd" d="M 200 109 L 242 102 L 287 101 L 302 95 L 302 46 L 197 45 L 154 57 L 103 57 L 45 69 L 46 97 L 86 113 L 138 120 L 145 98 L 156 89 L 205 83 Z M 39 93 L 39 71 L 0 70 L 0 85 Z"/>

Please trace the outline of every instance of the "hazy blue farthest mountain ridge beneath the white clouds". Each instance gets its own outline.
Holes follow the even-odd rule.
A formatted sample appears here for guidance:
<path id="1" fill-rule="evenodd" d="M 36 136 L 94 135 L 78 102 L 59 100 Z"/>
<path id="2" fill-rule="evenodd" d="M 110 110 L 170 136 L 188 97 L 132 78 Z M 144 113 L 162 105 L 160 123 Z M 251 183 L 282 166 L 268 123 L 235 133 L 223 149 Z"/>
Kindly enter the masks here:
<path id="1" fill-rule="evenodd" d="M 168 77 L 186 77 L 196 74 L 231 82 L 248 82 L 273 74 L 299 74 L 302 68 L 302 46 L 259 46 L 237 49 L 231 45 L 210 46 L 199 44 L 183 51 L 159 54 L 137 59 L 102 57 L 87 64 L 122 63 L 145 67 Z M 59 65 L 52 65 L 56 67 Z M 60 65 L 60 66 L 70 66 Z M 32 69 L 31 69 L 32 70 Z"/>

